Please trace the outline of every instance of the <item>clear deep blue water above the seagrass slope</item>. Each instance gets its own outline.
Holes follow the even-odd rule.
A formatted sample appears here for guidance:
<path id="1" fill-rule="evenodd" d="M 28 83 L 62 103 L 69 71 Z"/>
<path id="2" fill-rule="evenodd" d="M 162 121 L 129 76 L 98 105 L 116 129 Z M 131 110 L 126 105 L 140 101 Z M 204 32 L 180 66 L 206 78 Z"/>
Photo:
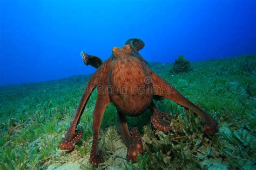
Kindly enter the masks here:
<path id="1" fill-rule="evenodd" d="M 80 51 L 106 60 L 140 38 L 147 61 L 256 53 L 256 1 L 1 0 L 0 86 L 92 74 Z"/>

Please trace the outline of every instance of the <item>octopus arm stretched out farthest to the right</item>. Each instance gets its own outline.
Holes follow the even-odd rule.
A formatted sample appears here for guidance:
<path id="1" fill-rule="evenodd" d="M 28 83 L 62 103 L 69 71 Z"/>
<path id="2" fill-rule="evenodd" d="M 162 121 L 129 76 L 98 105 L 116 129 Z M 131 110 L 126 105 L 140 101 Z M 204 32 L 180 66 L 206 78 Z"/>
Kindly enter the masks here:
<path id="1" fill-rule="evenodd" d="M 163 96 L 170 100 L 182 105 L 187 109 L 193 109 L 193 111 L 200 117 L 201 122 L 204 124 L 204 132 L 208 134 L 214 134 L 218 131 L 217 121 L 207 114 L 207 112 L 198 108 L 195 104 L 189 101 L 186 97 L 181 95 L 171 84 L 161 79 L 158 75 L 154 74 L 150 69 L 147 69 L 150 73 L 153 81 L 154 95 Z"/>

